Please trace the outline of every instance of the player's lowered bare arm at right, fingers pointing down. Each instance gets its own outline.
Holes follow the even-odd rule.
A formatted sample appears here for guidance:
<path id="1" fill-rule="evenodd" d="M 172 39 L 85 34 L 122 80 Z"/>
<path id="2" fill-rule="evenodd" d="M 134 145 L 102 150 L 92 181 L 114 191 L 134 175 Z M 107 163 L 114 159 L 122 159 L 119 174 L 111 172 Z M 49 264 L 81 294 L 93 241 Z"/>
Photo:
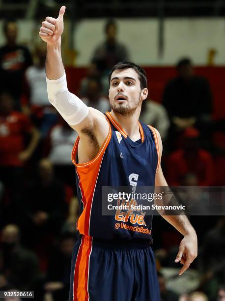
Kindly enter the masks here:
<path id="1" fill-rule="evenodd" d="M 158 131 L 157 136 L 161 157 L 163 146 Z M 156 173 L 155 186 L 168 186 L 161 166 Z M 190 264 L 197 257 L 197 235 L 186 215 L 162 215 L 162 217 L 165 218 L 174 228 L 176 228 L 177 231 L 184 236 L 183 240 L 180 242 L 179 251 L 175 259 L 176 263 L 180 261 L 184 265 L 179 271 L 179 275 L 181 275 L 189 268 Z"/>

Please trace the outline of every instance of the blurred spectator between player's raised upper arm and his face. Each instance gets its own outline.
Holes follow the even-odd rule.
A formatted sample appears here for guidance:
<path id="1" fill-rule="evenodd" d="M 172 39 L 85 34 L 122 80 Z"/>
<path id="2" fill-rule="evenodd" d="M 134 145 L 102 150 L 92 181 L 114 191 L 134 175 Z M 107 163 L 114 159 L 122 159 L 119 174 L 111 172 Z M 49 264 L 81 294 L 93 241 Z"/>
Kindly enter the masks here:
<path id="1" fill-rule="evenodd" d="M 87 83 L 86 97 L 82 98 L 82 101 L 94 109 L 105 113 L 111 110 L 109 99 L 101 96 L 102 84 L 99 80 L 90 79 Z"/>

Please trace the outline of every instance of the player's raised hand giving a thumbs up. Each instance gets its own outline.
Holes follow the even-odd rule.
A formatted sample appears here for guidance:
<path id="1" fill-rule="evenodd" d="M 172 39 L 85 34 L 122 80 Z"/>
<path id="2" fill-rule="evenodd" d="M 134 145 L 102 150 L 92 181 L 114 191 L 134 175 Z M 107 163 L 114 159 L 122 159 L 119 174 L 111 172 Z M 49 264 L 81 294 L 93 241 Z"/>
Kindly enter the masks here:
<path id="1" fill-rule="evenodd" d="M 63 32 L 63 15 L 65 10 L 66 7 L 61 6 L 57 19 L 47 17 L 41 24 L 39 36 L 48 45 L 56 45 Z"/>

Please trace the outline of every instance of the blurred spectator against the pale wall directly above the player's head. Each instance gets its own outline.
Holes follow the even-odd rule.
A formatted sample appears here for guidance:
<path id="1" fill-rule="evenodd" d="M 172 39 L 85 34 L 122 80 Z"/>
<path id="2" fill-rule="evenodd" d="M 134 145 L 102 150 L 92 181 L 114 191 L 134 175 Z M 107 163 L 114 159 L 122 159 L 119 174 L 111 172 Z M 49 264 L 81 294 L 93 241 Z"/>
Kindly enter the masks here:
<path id="1" fill-rule="evenodd" d="M 117 26 L 113 20 L 109 20 L 105 26 L 106 40 L 94 51 L 92 62 L 102 75 L 108 75 L 110 69 L 119 61 L 129 60 L 126 47 L 116 39 Z"/>

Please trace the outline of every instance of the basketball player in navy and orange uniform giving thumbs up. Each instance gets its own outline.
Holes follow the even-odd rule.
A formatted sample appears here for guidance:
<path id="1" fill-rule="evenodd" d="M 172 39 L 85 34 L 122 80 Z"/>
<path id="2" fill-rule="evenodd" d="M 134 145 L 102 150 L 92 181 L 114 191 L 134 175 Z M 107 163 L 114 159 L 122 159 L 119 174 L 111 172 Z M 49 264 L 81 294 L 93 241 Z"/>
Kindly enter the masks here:
<path id="1" fill-rule="evenodd" d="M 126 222 L 124 216 L 101 214 L 102 186 L 167 185 L 159 132 L 138 121 L 148 94 L 146 74 L 133 63 L 118 63 L 110 73 L 112 111 L 104 115 L 86 107 L 67 89 L 60 52 L 64 12 L 62 6 L 57 19 L 47 17 L 39 35 L 47 43 L 49 101 L 79 134 L 72 161 L 81 236 L 72 256 L 70 301 L 159 301 L 150 246 L 152 217 L 143 221 L 136 211 L 139 216 L 131 228 L 129 218 Z M 163 217 L 184 236 L 175 259 L 183 264 L 182 274 L 197 256 L 197 236 L 186 216 Z"/>

